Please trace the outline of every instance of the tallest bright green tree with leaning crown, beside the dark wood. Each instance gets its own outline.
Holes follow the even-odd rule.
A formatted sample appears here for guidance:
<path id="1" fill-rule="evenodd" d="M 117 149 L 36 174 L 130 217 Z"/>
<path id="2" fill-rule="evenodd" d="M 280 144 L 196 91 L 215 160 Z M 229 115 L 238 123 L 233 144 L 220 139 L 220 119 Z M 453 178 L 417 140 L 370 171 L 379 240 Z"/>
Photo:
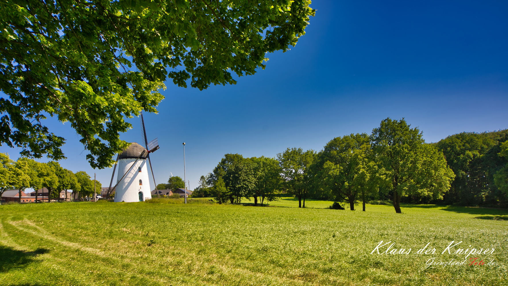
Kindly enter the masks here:
<path id="1" fill-rule="evenodd" d="M 383 120 L 372 130 L 370 141 L 375 161 L 391 185 L 396 213 L 402 213 L 402 196 L 420 192 L 438 197 L 455 177 L 442 153 L 425 144 L 420 130 L 410 128 L 404 119 Z"/>

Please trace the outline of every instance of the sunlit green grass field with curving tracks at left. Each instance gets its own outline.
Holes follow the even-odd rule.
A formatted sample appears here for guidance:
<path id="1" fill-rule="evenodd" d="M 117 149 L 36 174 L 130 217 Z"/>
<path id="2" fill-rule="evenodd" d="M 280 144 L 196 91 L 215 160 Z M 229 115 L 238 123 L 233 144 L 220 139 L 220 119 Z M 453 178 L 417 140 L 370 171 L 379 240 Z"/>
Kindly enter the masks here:
<path id="1" fill-rule="evenodd" d="M 158 203 L 0 206 L 0 285 L 507 285 L 508 212 L 406 205 L 308 209 Z M 320 209 L 321 208 L 321 209 Z M 370 254 L 379 241 L 409 254 Z M 494 265 L 442 254 L 451 241 Z M 416 254 L 428 242 L 435 254 Z M 386 249 L 386 247 L 384 248 Z"/>

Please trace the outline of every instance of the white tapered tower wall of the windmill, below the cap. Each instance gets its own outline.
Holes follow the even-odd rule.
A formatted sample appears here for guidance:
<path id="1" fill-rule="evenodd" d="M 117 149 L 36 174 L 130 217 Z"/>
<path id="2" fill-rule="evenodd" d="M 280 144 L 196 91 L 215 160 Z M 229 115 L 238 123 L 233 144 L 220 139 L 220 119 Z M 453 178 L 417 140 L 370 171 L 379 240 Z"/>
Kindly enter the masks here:
<path id="1" fill-rule="evenodd" d="M 118 160 L 117 182 L 122 178 L 123 174 L 129 171 L 136 159 L 120 159 Z M 138 168 L 141 167 L 141 172 Z M 139 180 L 142 185 L 139 185 Z M 150 182 L 148 181 L 148 169 L 146 167 L 146 159 L 139 159 L 135 166 L 129 171 L 115 189 L 115 202 L 139 202 L 140 191 L 143 192 L 143 201 L 151 198 Z"/>

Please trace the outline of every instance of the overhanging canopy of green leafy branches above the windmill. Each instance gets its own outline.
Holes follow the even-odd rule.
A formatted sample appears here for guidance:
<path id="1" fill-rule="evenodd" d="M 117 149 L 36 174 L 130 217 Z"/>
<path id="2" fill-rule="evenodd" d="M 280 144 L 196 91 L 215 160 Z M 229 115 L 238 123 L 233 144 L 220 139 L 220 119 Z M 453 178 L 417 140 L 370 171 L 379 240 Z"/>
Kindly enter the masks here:
<path id="1" fill-rule="evenodd" d="M 42 120 L 70 122 L 92 167 L 128 144 L 124 117 L 156 112 L 158 91 L 234 84 L 305 34 L 308 0 L 1 1 L 0 144 L 65 158 Z"/>

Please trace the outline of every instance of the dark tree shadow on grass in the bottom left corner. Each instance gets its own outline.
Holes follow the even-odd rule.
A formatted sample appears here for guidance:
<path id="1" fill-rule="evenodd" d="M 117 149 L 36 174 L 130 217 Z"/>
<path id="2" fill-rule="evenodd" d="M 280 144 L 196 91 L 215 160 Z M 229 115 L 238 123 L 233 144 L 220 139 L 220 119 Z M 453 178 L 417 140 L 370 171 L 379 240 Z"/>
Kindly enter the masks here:
<path id="1" fill-rule="evenodd" d="M 9 272 L 11 269 L 25 268 L 30 263 L 41 262 L 42 260 L 37 260 L 35 257 L 48 251 L 45 248 L 38 248 L 35 251 L 24 251 L 0 245 L 0 272 Z"/>

